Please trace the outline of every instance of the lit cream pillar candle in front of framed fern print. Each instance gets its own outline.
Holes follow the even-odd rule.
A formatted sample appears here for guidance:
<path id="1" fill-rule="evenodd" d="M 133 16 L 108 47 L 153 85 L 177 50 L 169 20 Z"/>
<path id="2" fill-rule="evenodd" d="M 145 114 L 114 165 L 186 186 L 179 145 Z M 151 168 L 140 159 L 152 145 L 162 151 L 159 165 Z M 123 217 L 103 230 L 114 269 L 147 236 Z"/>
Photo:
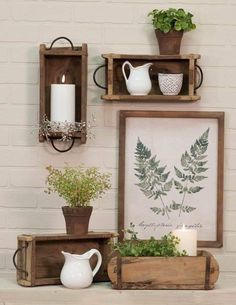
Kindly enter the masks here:
<path id="1" fill-rule="evenodd" d="M 197 231 L 186 229 L 185 225 L 181 229 L 172 231 L 172 234 L 180 239 L 177 249 L 185 250 L 189 256 L 197 255 Z"/>

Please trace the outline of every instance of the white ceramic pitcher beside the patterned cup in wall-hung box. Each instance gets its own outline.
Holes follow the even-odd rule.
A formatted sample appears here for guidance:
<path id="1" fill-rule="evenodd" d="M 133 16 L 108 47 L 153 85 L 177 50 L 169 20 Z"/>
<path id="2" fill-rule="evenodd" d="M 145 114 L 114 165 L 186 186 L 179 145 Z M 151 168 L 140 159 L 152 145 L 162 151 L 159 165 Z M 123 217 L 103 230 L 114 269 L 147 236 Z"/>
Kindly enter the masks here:
<path id="1" fill-rule="evenodd" d="M 130 69 L 129 78 L 125 73 L 125 66 Z M 133 67 L 129 61 L 125 61 L 122 65 L 122 73 L 125 78 L 126 87 L 131 95 L 147 95 L 152 89 L 152 83 L 149 76 L 149 68 L 152 63 L 142 66 Z"/>

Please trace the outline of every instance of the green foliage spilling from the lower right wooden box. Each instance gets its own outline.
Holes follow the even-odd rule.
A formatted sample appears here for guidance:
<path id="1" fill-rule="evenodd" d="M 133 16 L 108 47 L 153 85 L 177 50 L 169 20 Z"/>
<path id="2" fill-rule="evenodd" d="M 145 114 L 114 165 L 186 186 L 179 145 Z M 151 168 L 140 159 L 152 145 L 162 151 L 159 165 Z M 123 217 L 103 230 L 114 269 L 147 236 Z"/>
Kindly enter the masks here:
<path id="1" fill-rule="evenodd" d="M 134 231 L 135 226 L 130 224 L 130 228 L 125 230 L 131 235 L 131 238 L 125 239 L 114 245 L 114 250 L 118 251 L 121 256 L 186 256 L 186 251 L 179 252 L 176 246 L 179 239 L 171 233 L 164 235 L 161 240 L 151 237 L 149 240 L 139 240 L 137 232 Z"/>

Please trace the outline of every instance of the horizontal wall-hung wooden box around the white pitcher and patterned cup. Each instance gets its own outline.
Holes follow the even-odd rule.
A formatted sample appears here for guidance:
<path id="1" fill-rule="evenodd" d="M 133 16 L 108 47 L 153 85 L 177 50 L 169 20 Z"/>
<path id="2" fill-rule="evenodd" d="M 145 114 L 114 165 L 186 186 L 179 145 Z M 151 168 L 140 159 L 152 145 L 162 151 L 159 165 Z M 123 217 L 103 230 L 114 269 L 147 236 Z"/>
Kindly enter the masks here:
<path id="1" fill-rule="evenodd" d="M 106 62 L 107 90 L 102 99 L 106 101 L 127 102 L 195 102 L 200 96 L 195 93 L 195 74 L 199 54 L 187 55 L 128 55 L 128 54 L 103 54 Z M 129 95 L 125 79 L 122 74 L 122 64 L 126 61 L 134 66 L 141 66 L 148 62 L 153 65 L 149 69 L 152 89 L 148 95 Z M 158 73 L 183 73 L 183 85 L 179 95 L 163 95 L 158 85 Z"/>

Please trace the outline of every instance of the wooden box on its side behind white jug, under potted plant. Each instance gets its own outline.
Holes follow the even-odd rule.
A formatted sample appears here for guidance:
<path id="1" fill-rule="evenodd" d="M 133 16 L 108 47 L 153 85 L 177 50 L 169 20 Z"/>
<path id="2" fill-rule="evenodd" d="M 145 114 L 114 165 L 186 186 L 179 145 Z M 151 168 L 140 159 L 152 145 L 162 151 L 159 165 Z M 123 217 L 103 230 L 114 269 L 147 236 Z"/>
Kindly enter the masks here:
<path id="1" fill-rule="evenodd" d="M 64 256 L 61 251 L 82 254 L 92 248 L 98 249 L 103 259 L 94 281 L 109 281 L 107 264 L 113 236 L 113 233 L 93 232 L 83 236 L 19 235 L 17 238 L 17 282 L 22 286 L 60 284 L 60 272 L 64 265 Z M 90 260 L 92 268 L 96 262 L 97 258 L 93 256 Z"/>

